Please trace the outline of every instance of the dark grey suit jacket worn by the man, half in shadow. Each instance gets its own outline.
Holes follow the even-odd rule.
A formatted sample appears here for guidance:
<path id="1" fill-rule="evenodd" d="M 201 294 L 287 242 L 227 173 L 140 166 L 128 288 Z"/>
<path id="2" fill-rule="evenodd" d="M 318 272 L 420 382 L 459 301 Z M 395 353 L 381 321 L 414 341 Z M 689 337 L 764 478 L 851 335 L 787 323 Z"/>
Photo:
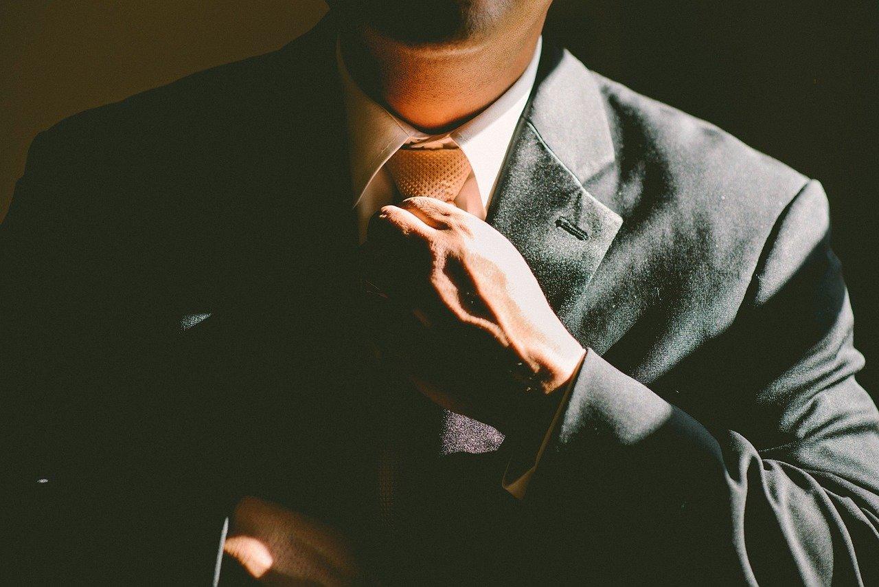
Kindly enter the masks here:
<path id="1" fill-rule="evenodd" d="M 877 414 L 816 181 L 548 40 L 488 222 L 589 351 L 519 502 L 505 445 L 442 455 L 436 408 L 361 359 L 334 40 L 34 140 L 0 235 L 6 572 L 208 583 L 251 494 L 388 583 L 879 583 Z M 393 532 L 389 438 L 422 456 Z"/>

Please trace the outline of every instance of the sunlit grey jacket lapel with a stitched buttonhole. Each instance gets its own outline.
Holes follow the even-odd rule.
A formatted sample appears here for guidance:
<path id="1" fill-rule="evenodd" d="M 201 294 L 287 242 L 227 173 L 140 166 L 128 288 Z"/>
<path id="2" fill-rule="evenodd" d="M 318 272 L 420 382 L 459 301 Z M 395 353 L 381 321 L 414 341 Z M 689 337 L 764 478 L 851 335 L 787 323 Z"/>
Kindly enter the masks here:
<path id="1" fill-rule="evenodd" d="M 519 249 L 570 329 L 576 327 L 572 310 L 622 224 L 584 187 L 613 162 L 592 73 L 567 51 L 544 45 L 487 221 Z"/>

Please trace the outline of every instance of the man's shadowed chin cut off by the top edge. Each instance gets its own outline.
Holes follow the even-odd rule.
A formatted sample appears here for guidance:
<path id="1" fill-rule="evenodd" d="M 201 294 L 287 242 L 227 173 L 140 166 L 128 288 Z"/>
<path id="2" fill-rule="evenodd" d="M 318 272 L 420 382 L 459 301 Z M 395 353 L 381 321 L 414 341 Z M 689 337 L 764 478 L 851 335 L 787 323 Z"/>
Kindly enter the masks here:
<path id="1" fill-rule="evenodd" d="M 355 26 L 407 45 L 469 45 L 505 26 L 529 0 L 335 0 Z"/>

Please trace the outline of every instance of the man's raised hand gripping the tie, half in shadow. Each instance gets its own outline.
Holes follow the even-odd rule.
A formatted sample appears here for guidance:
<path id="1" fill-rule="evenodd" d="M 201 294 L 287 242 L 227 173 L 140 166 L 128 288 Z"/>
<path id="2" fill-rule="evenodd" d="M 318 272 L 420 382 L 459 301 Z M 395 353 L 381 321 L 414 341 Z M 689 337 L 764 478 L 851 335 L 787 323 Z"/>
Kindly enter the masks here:
<path id="1" fill-rule="evenodd" d="M 476 216 L 410 198 L 372 218 L 362 251 L 364 280 L 387 298 L 381 358 L 439 405 L 509 433 L 572 377 L 585 350 L 519 251 Z"/>

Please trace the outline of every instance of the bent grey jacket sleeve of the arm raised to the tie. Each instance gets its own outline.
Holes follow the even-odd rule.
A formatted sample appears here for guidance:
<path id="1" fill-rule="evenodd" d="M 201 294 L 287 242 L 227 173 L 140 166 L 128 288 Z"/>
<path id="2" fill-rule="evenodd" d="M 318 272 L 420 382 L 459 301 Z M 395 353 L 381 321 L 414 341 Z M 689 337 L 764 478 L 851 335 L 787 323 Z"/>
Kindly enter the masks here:
<path id="1" fill-rule="evenodd" d="M 725 414 L 697 422 L 588 351 L 527 496 L 549 541 L 621 583 L 879 583 L 879 418 L 852 334 L 813 181 L 777 220 L 723 352 L 693 371 L 689 393 Z"/>

